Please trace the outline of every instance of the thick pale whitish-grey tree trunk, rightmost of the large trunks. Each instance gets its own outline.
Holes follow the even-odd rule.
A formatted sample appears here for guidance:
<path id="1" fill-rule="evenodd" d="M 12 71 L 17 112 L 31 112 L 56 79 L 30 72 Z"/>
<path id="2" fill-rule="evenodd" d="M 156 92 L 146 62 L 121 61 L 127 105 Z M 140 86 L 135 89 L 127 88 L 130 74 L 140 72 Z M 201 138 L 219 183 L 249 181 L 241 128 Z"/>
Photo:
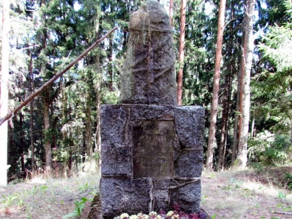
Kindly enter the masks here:
<path id="1" fill-rule="evenodd" d="M 246 0 L 246 11 L 244 15 L 244 47 L 242 57 L 242 77 L 240 85 L 240 104 L 239 104 L 239 133 L 238 133 L 238 153 L 239 166 L 244 168 L 247 164 L 247 140 L 250 111 L 250 80 L 253 62 L 254 36 L 253 24 L 256 0 Z"/>

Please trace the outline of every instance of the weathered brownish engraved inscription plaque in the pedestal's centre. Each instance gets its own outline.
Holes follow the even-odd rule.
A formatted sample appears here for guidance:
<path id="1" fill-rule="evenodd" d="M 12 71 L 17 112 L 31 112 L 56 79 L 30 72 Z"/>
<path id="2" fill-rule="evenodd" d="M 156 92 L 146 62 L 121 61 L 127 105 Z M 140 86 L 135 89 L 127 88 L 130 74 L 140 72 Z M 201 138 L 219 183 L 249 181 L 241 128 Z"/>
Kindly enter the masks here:
<path id="1" fill-rule="evenodd" d="M 133 127 L 133 177 L 172 177 L 174 121 L 136 120 Z"/>

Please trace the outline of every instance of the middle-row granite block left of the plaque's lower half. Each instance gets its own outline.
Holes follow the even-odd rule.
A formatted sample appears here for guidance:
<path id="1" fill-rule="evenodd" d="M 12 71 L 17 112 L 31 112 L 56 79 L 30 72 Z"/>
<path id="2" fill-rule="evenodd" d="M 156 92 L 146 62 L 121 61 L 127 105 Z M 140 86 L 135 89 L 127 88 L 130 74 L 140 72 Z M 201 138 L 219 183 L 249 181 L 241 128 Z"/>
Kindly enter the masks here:
<path id="1" fill-rule="evenodd" d="M 101 174 L 104 175 L 131 175 L 132 147 L 104 146 L 101 151 Z"/>

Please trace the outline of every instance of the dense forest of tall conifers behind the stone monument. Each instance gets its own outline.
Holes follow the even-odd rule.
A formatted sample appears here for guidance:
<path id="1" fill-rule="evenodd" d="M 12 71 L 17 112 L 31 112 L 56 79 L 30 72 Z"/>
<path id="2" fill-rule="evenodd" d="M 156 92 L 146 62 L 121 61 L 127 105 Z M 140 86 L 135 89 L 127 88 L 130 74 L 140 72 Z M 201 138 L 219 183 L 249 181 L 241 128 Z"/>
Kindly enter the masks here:
<path id="1" fill-rule="evenodd" d="M 292 2 L 227 0 L 221 11 L 225 19 L 223 17 L 223 26 L 220 26 L 222 1 L 162 2 L 166 3 L 167 10 L 169 7 L 173 26 L 178 90 L 182 88 L 178 102 L 205 108 L 207 169 L 246 165 L 262 168 L 289 163 L 292 155 Z M 1 125 L 8 128 L 9 181 L 25 178 L 29 172 L 40 169 L 53 170 L 54 177 L 71 176 L 86 171 L 86 162 L 93 162 L 98 168 L 99 106 L 120 102 L 120 74 L 126 58 L 129 15 L 143 1 L 3 2 L 2 12 L 4 4 L 8 4 L 9 17 L 1 22 L 1 117 L 5 111 L 2 89 L 7 90 L 8 86 L 9 112 L 96 39 L 114 26 L 119 27 L 14 114 L 7 125 Z M 5 27 L 8 27 L 9 40 L 6 43 Z M 218 59 L 220 29 L 224 32 L 222 57 Z M 245 43 L 247 36 L 252 36 L 252 44 Z M 255 48 L 249 48 L 249 54 L 245 54 L 246 46 L 253 44 Z M 250 54 L 250 68 L 246 68 Z M 220 81 L 218 76 L 214 77 L 215 63 L 219 63 Z M 9 71 L 7 83 L 4 70 Z M 251 76 L 250 81 L 246 76 Z M 213 77 L 218 79 L 217 95 L 214 95 Z M 217 98 L 217 107 L 214 98 Z M 214 109 L 217 110 L 215 117 Z M 212 127 L 214 133 L 209 135 Z M 0 135 L 3 157 L 6 156 L 3 129 Z M 0 166 L 4 169 L 1 173 L 6 174 L 5 167 Z"/>

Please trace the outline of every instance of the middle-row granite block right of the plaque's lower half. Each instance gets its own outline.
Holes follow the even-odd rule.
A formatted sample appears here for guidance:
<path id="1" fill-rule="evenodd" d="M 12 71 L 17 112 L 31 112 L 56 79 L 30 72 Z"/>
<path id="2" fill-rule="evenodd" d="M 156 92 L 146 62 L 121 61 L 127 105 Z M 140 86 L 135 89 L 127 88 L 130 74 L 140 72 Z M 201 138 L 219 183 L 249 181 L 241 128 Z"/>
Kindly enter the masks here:
<path id="1" fill-rule="evenodd" d="M 176 153 L 175 177 L 201 177 L 203 150 L 181 150 Z"/>

